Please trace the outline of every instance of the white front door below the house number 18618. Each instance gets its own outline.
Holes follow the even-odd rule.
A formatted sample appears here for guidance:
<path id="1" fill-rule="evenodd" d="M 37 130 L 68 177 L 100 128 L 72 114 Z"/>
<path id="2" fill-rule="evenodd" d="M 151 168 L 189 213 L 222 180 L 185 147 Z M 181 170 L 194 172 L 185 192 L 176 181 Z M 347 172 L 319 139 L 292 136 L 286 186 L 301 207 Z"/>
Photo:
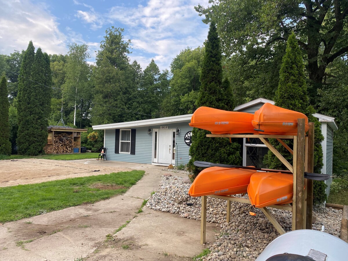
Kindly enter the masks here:
<path id="1" fill-rule="evenodd" d="M 158 163 L 171 164 L 172 161 L 172 130 L 158 130 Z"/>

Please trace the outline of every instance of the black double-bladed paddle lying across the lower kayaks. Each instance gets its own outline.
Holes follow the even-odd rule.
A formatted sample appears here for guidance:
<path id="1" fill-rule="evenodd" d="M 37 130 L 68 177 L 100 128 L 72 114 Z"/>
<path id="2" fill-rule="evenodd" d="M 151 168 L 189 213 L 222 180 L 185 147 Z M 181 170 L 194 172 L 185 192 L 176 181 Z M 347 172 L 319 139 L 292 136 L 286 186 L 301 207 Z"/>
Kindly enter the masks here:
<path id="1" fill-rule="evenodd" d="M 244 169 L 253 169 L 256 171 L 266 171 L 266 172 L 281 172 L 285 174 L 292 174 L 291 171 L 284 171 L 281 169 L 268 169 L 268 168 L 255 168 L 255 167 L 247 167 L 247 166 L 236 166 L 236 165 L 229 165 L 229 164 L 220 164 L 220 163 L 211 163 L 207 161 L 198 161 L 196 160 L 193 162 L 193 165 L 197 167 L 223 167 L 223 168 L 244 168 Z M 308 173 L 304 172 L 304 178 L 309 180 L 328 180 L 330 179 L 329 174 L 321 174 L 321 173 Z"/>

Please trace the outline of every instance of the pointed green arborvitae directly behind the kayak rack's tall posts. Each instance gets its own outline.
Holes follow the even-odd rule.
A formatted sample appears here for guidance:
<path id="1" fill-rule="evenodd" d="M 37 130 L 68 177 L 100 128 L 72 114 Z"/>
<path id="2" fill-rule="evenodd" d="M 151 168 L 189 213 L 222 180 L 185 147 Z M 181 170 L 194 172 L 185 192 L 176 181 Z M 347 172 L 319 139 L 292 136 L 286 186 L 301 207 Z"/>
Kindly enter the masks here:
<path id="1" fill-rule="evenodd" d="M 279 85 L 274 98 L 275 105 L 299 111 L 307 115 L 309 122 L 315 123 L 314 129 L 314 172 L 321 173 L 323 167 L 323 152 L 321 142 L 324 137 L 320 130 L 320 123 L 313 117 L 314 110 L 309 106 L 307 96 L 306 76 L 304 75 L 304 64 L 298 41 L 295 34 L 289 36 L 287 40 L 286 53 L 283 57 L 282 66 L 279 73 Z M 292 142 L 286 141 L 292 146 Z M 275 140 L 271 140 L 271 144 L 290 162 L 293 156 Z M 271 151 L 264 157 L 264 163 L 272 169 L 286 169 L 283 163 L 274 156 Z M 324 182 L 314 182 L 314 202 L 316 204 L 326 199 Z"/>

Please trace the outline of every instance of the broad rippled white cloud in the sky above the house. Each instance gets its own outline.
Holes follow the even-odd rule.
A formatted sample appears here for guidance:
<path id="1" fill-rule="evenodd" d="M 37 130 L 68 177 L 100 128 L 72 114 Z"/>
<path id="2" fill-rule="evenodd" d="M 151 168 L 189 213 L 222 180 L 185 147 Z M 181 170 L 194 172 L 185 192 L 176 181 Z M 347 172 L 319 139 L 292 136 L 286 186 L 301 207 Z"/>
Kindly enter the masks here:
<path id="1" fill-rule="evenodd" d="M 114 6 L 106 16 L 114 23 L 128 26 L 127 38 L 131 39 L 134 52 L 142 50 L 153 55 L 163 70 L 169 69 L 171 60 L 182 49 L 201 46 L 207 37 L 208 25 L 201 22 L 195 5 L 198 2 L 194 0 L 149 0 L 136 8 Z M 208 5 L 208 0 L 201 5 Z M 151 58 L 141 61 L 149 64 Z"/>

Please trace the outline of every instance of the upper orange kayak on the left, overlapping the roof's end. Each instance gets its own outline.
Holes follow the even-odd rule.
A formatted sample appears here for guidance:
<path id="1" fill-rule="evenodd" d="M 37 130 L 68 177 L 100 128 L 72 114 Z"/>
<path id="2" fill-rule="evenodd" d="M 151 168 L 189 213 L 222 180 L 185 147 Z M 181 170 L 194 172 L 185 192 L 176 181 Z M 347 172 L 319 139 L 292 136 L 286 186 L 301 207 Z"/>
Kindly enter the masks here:
<path id="1" fill-rule="evenodd" d="M 209 130 L 212 134 L 258 133 L 251 124 L 254 115 L 199 107 L 192 115 L 191 127 Z"/>

